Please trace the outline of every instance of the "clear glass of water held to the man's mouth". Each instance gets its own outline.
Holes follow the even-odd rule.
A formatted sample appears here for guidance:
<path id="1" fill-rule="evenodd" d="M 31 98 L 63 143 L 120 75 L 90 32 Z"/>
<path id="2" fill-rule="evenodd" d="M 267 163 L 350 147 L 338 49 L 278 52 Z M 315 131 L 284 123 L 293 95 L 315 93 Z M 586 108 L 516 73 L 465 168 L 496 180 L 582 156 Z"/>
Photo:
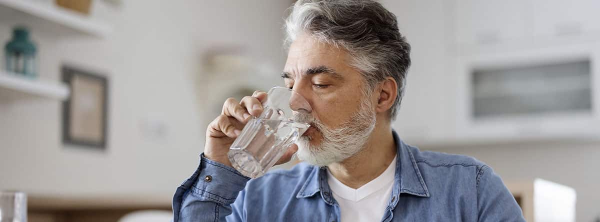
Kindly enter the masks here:
<path id="1" fill-rule="evenodd" d="M 265 174 L 310 127 L 294 120 L 299 112 L 312 110 L 306 99 L 291 89 L 269 90 L 263 108 L 259 117 L 248 121 L 227 153 L 233 168 L 250 178 Z"/>

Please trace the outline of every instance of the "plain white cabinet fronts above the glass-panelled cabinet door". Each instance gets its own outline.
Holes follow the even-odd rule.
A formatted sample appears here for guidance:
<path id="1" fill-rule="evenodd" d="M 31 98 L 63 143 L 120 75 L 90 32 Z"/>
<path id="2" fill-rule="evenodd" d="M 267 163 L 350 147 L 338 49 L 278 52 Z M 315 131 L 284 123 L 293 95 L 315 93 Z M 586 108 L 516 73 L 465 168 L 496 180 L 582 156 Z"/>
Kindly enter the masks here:
<path id="1" fill-rule="evenodd" d="M 473 47 L 485 45 L 597 37 L 598 11 L 600 1 L 596 0 L 455 0 L 448 8 L 448 19 L 454 26 L 452 44 L 473 51 Z"/>

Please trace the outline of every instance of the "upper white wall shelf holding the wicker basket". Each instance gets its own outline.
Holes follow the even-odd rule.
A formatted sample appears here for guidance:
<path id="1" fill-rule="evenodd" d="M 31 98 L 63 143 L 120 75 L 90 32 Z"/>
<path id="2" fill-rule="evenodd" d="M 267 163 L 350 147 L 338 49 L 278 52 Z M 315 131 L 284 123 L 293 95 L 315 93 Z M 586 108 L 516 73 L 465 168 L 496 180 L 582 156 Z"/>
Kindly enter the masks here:
<path id="1" fill-rule="evenodd" d="M 54 4 L 31 0 L 0 0 L 0 21 L 56 34 L 85 34 L 104 38 L 112 27 Z"/>

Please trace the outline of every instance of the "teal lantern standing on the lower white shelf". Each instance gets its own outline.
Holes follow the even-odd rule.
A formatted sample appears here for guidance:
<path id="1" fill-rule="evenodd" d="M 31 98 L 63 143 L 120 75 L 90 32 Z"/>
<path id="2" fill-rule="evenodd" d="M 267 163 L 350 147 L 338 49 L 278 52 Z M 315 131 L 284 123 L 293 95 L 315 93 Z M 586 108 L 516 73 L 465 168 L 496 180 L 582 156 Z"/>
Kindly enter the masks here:
<path id="1" fill-rule="evenodd" d="M 29 39 L 29 31 L 24 27 L 13 29 L 13 39 L 4 47 L 5 68 L 9 72 L 36 77 L 35 45 Z"/>

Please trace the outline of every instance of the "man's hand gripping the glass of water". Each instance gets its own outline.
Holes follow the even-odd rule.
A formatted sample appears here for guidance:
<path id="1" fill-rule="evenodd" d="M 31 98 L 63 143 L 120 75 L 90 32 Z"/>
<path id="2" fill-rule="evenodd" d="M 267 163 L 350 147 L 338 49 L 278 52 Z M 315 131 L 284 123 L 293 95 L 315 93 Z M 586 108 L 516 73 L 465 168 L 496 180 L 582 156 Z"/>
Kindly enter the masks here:
<path id="1" fill-rule="evenodd" d="M 223 111 L 206 129 L 206 144 L 204 156 L 210 160 L 232 166 L 227 158 L 227 151 L 239 136 L 250 118 L 258 117 L 263 112 L 262 102 L 266 101 L 265 92 L 255 91 L 252 96 L 245 96 L 238 102 L 229 98 L 223 104 Z M 275 165 L 289 162 L 292 155 L 298 151 L 293 144 Z"/>

